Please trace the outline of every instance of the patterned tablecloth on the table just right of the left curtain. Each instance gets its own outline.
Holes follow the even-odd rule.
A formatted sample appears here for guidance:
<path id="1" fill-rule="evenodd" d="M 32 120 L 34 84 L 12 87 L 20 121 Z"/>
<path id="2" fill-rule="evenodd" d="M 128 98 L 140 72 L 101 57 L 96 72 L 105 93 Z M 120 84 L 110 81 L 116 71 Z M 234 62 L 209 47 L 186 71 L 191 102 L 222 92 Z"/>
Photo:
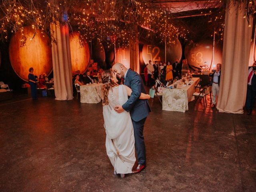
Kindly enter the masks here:
<path id="1" fill-rule="evenodd" d="M 102 83 L 88 84 L 80 86 L 81 103 L 99 103 L 103 98 Z"/>

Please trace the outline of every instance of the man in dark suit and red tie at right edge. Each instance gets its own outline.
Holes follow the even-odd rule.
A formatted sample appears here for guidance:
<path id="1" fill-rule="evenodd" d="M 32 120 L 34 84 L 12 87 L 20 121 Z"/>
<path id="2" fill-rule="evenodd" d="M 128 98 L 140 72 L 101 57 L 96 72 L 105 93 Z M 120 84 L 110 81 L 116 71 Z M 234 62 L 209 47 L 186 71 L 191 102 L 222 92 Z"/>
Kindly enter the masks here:
<path id="1" fill-rule="evenodd" d="M 256 62 L 248 70 L 247 78 L 247 94 L 246 94 L 246 109 L 247 114 L 252 114 L 252 108 L 254 106 L 256 97 Z"/>

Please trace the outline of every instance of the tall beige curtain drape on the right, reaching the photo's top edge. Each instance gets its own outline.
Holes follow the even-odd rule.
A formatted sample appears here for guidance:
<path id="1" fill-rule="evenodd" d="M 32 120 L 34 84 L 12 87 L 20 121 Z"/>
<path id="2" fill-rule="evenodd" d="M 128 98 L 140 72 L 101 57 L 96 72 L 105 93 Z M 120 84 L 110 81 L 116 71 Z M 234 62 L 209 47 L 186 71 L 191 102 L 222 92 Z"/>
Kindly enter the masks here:
<path id="1" fill-rule="evenodd" d="M 228 1 L 226 6 L 222 70 L 217 109 L 243 113 L 250 56 L 252 27 L 246 16 L 246 4 Z M 252 19 L 250 19 L 252 25 Z"/>

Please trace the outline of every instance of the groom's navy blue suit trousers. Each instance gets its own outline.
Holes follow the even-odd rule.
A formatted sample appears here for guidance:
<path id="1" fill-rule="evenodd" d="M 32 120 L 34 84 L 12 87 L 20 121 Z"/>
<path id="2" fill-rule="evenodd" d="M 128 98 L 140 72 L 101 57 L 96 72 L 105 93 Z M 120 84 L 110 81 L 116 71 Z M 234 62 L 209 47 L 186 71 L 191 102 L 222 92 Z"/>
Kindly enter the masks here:
<path id="1" fill-rule="evenodd" d="M 137 122 L 132 120 L 135 138 L 135 149 L 137 151 L 138 164 L 140 165 L 146 165 L 146 149 L 143 135 L 145 121 L 146 118 Z"/>

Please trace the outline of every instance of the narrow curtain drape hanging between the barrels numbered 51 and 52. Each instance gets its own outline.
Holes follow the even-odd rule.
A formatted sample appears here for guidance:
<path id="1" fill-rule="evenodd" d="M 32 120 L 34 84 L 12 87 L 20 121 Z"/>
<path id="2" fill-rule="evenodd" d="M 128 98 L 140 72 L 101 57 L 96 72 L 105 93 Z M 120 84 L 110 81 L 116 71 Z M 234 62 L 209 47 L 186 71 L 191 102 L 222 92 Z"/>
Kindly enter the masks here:
<path id="1" fill-rule="evenodd" d="M 135 39 L 130 40 L 130 68 L 140 74 L 139 62 L 139 40 L 138 40 L 138 27 L 135 26 Z"/>

